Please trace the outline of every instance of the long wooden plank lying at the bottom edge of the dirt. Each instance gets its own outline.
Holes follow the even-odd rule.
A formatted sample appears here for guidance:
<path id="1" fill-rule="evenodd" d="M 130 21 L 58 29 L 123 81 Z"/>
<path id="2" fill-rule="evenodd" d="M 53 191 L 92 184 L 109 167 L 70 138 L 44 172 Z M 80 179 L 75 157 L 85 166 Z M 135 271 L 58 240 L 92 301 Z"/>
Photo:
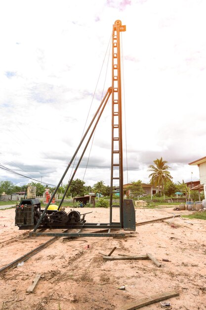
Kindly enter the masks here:
<path id="1" fill-rule="evenodd" d="M 142 298 L 139 301 L 125 304 L 124 306 L 118 308 L 117 310 L 135 310 L 135 309 L 139 309 L 141 307 L 147 306 L 147 305 L 160 302 L 161 300 L 165 300 L 165 299 L 176 297 L 176 296 L 179 296 L 179 293 L 175 291 L 158 293 L 158 294 L 151 295 L 149 297 Z"/>

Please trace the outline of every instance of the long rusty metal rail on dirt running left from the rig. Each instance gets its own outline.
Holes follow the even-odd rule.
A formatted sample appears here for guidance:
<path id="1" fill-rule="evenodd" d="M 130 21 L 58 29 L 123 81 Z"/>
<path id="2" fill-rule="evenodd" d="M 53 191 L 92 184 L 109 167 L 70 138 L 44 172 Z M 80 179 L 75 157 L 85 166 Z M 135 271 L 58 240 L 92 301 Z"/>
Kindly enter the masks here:
<path id="1" fill-rule="evenodd" d="M 67 231 L 68 230 L 66 230 L 65 232 L 67 232 Z M 35 254 L 39 253 L 41 250 L 45 249 L 50 244 L 52 244 L 55 241 L 57 241 L 59 238 L 60 237 L 51 238 L 48 241 L 46 241 L 43 244 L 41 244 L 39 247 L 35 248 L 34 250 L 32 250 L 32 251 L 28 252 L 27 254 L 23 255 L 22 257 L 17 258 L 16 260 L 12 261 L 8 265 L 6 265 L 5 267 L 0 269 L 0 275 L 3 274 L 5 271 L 8 271 L 9 269 L 16 267 L 19 262 L 26 261 L 27 259 L 31 258 Z"/>

